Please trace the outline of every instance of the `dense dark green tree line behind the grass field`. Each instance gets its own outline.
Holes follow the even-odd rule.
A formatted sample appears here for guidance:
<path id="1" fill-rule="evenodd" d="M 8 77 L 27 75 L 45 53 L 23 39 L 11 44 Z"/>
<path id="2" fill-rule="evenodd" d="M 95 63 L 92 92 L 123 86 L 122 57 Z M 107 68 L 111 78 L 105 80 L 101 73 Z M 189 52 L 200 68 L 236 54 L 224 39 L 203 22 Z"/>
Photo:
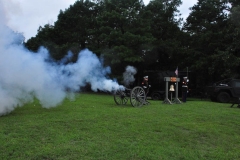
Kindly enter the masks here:
<path id="1" fill-rule="evenodd" d="M 112 74 L 127 65 L 143 70 L 195 71 L 202 85 L 239 77 L 240 2 L 198 0 L 183 23 L 181 0 L 78 0 L 54 25 L 40 26 L 25 45 L 50 50 L 56 61 L 70 50 L 74 62 L 88 48 L 104 57 Z"/>

